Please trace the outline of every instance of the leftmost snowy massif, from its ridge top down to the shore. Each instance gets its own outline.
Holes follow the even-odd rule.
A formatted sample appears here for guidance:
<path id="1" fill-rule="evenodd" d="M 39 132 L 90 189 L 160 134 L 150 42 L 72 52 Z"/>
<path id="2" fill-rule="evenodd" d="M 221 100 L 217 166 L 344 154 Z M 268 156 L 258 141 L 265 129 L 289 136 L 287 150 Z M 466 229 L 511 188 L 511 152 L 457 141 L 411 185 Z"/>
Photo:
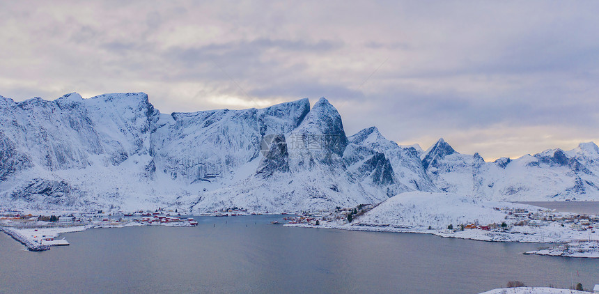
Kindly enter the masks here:
<path id="1" fill-rule="evenodd" d="M 36 189 L 48 183 L 55 187 L 88 183 L 86 189 L 93 191 L 88 196 L 98 193 L 100 202 L 118 203 L 119 199 L 109 196 L 102 199 L 102 195 L 114 195 L 119 189 L 109 186 L 105 176 L 123 176 L 123 167 L 119 166 L 132 156 L 135 163 L 127 164 L 124 171 L 135 178 L 124 182 L 143 180 L 139 175 L 146 167 L 143 161 L 151 162 L 150 132 L 158 114 L 146 94 L 114 93 L 84 100 L 71 93 L 54 101 L 33 98 L 17 103 L 5 98 L 0 104 L 0 169 L 4 175 L 0 200 L 20 199 L 36 207 L 46 203 L 50 209 L 52 204 L 81 206 L 89 200 L 81 198 L 85 192 L 54 189 L 63 191 L 65 196 L 55 197 L 52 192 L 46 197 Z M 37 196 L 30 199 L 28 194 Z"/>

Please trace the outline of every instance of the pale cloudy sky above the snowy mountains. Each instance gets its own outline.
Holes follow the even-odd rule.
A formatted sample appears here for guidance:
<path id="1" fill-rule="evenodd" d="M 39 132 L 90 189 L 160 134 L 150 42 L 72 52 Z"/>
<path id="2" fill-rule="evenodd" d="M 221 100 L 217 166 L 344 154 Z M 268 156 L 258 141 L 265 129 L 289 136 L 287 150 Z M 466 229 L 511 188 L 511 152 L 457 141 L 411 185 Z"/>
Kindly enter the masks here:
<path id="1" fill-rule="evenodd" d="M 324 3 L 322 3 L 324 2 Z M 325 96 L 353 134 L 485 160 L 599 143 L 599 2 L 0 1 L 0 95 L 163 113 Z"/>

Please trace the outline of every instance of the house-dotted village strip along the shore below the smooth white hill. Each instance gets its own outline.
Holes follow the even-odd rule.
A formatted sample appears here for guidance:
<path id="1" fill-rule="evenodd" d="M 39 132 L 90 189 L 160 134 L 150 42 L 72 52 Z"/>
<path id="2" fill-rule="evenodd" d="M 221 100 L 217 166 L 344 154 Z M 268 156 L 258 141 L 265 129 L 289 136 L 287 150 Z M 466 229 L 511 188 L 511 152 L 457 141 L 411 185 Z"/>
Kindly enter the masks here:
<path id="1" fill-rule="evenodd" d="M 376 206 L 360 205 L 354 208 L 339 208 L 333 212 L 302 213 L 287 217 L 286 226 L 331 228 L 351 231 L 382 231 L 398 233 L 428 233 L 446 238 L 464 238 L 495 242 L 573 242 L 568 248 L 571 256 L 599 257 L 599 216 L 571 212 L 556 212 L 546 208 L 495 207 L 504 214 L 499 222 L 482 223 L 478 219 L 469 222 L 449 222 L 443 226 L 411 224 L 407 222 L 373 224 L 362 222 L 361 216 Z M 588 242 L 579 246 L 580 242 Z M 579 248 L 579 252 L 575 252 Z M 594 254 L 580 254 L 593 251 Z M 553 251 L 555 252 L 555 250 Z M 539 252 L 541 254 L 543 252 Z M 534 253 L 537 254 L 537 253 Z M 555 254 L 554 254 L 555 255 Z M 561 255 L 565 256 L 565 255 Z"/>

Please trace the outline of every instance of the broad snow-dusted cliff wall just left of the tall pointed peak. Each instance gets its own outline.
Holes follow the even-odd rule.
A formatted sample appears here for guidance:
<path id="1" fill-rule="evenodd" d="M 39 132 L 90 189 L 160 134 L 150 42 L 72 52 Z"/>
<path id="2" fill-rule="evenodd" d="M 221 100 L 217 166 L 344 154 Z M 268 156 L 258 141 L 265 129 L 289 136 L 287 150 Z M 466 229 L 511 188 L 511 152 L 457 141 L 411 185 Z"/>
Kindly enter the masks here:
<path id="1" fill-rule="evenodd" d="M 265 109 L 162 116 L 153 134 L 156 168 L 188 184 L 226 178 L 258 158 L 265 135 L 290 132 L 309 109 L 303 99 Z"/>

